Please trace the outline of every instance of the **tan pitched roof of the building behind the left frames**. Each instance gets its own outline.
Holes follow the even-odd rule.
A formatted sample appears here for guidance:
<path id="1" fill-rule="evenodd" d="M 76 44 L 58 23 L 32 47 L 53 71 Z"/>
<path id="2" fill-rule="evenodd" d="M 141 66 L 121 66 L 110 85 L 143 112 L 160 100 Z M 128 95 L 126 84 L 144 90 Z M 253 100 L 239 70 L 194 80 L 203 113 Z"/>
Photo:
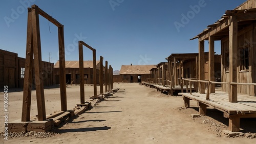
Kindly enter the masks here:
<path id="1" fill-rule="evenodd" d="M 99 62 L 96 61 L 96 67 L 99 69 Z M 66 61 L 66 68 L 79 68 L 79 61 Z M 54 68 L 59 68 L 59 61 L 54 65 Z M 83 68 L 93 68 L 93 61 L 83 61 Z"/>

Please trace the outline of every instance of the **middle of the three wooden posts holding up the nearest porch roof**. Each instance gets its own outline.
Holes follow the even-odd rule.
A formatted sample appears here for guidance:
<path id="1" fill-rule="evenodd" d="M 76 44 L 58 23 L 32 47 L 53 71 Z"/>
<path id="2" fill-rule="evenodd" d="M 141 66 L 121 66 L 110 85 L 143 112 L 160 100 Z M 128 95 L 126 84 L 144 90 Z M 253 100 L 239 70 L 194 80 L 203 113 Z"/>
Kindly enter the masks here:
<path id="1" fill-rule="evenodd" d="M 214 36 L 209 36 L 209 55 L 208 55 L 208 79 L 215 81 L 215 68 L 214 68 Z M 215 93 L 215 84 L 210 84 L 210 92 Z"/>

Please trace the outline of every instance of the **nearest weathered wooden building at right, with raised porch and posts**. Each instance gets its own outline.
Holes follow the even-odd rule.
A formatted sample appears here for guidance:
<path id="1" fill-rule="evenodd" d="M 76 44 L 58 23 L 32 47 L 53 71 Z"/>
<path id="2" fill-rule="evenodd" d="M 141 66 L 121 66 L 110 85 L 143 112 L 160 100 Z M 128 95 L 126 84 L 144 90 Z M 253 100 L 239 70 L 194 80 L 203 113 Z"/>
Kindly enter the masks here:
<path id="1" fill-rule="evenodd" d="M 206 114 L 208 106 L 222 111 L 232 132 L 240 131 L 241 118 L 256 118 L 255 8 L 256 0 L 248 0 L 234 10 L 227 10 L 221 19 L 193 38 L 198 39 L 199 45 L 199 93 L 181 93 L 185 107 L 189 107 L 189 100 L 198 102 L 199 114 Z M 207 81 L 205 41 L 209 43 Z M 222 82 L 214 79 L 215 41 L 221 41 Z M 208 83 L 206 94 L 205 83 Z M 215 91 L 212 83 L 221 83 L 224 92 Z"/>

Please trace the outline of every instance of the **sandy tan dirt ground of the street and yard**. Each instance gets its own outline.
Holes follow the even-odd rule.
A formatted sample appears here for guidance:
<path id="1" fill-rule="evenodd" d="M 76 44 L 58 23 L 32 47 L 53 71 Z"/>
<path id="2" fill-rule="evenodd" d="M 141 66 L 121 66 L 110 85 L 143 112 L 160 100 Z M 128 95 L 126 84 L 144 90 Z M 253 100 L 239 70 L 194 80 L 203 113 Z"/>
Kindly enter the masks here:
<path id="1" fill-rule="evenodd" d="M 79 117 L 70 120 L 50 138 L 10 138 L 0 137 L 1 143 L 255 143 L 255 138 L 227 138 L 220 135 L 227 129 L 228 119 L 223 113 L 209 108 L 207 116 L 191 118 L 198 113 L 197 103 L 190 101 L 191 108 L 183 109 L 181 96 L 167 96 L 155 89 L 138 83 L 114 83 L 120 88 L 110 98 L 100 102 Z M 99 87 L 97 88 L 99 90 Z M 9 89 L 9 119 L 21 118 L 22 90 Z M 86 99 L 93 95 L 93 87 L 85 86 Z M 99 93 L 99 92 L 98 92 Z M 0 112 L 4 116 L 4 93 L 1 95 Z M 37 114 L 35 91 L 32 93 L 31 117 Z M 67 88 L 68 109 L 79 103 L 79 86 Z M 45 88 L 47 114 L 60 110 L 59 89 Z M 4 117 L 1 117 L 1 131 Z M 245 132 L 256 131 L 256 120 L 241 120 Z"/>

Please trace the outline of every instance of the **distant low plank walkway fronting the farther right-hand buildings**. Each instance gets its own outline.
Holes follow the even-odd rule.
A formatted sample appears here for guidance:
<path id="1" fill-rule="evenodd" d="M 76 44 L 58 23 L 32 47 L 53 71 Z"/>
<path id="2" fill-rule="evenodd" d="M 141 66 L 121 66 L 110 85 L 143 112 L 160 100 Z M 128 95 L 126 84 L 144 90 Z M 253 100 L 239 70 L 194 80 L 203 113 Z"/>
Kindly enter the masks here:
<path id="1" fill-rule="evenodd" d="M 167 85 L 167 87 L 163 85 L 153 84 L 153 83 L 144 83 L 146 87 L 157 89 L 157 91 L 163 93 L 164 91 L 168 93 L 168 95 L 172 95 L 175 91 L 181 92 L 181 87 L 179 85 L 175 85 L 174 88 L 171 88 L 170 85 Z M 186 91 L 186 85 L 183 86 L 183 91 Z M 195 88 L 192 86 L 191 91 L 195 91 Z M 190 87 L 188 85 L 188 92 L 190 92 Z"/>

